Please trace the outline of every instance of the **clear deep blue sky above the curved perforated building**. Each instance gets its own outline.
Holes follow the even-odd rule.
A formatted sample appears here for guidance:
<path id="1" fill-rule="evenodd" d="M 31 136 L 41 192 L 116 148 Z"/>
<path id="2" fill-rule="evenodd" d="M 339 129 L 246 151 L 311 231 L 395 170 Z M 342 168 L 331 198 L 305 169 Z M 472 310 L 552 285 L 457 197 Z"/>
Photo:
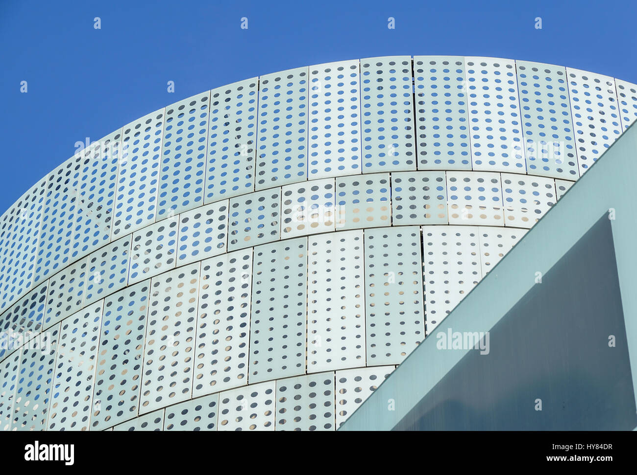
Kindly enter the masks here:
<path id="1" fill-rule="evenodd" d="M 76 141 L 97 141 L 204 90 L 301 65 L 476 55 L 637 83 L 636 13 L 634 1 L 622 0 L 0 0 L 0 213 L 72 156 Z M 388 17 L 396 29 L 387 29 Z"/>

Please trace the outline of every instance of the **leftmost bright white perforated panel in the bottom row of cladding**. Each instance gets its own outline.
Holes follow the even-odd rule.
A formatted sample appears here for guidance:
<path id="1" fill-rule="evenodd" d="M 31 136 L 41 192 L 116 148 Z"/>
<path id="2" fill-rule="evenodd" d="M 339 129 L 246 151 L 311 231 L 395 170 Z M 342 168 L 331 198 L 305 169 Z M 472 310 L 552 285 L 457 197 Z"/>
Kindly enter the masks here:
<path id="1" fill-rule="evenodd" d="M 276 381 L 219 394 L 217 430 L 275 430 Z"/>

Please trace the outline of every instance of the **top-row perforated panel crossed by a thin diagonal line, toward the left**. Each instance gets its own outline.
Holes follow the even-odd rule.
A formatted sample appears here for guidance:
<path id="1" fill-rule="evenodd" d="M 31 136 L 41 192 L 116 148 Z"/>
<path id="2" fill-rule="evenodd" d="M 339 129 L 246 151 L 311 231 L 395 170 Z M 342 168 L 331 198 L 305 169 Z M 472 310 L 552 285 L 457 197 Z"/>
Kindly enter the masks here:
<path id="1" fill-rule="evenodd" d="M 71 260 L 86 256 L 110 240 L 121 139 L 122 129 L 118 129 L 90 144 L 82 154 Z"/>

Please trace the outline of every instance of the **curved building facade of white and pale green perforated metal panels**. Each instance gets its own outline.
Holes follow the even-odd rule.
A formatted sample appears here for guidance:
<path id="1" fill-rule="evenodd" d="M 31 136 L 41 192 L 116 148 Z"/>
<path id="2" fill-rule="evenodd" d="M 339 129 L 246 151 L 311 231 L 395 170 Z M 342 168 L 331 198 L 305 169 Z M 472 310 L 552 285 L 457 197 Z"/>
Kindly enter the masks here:
<path id="1" fill-rule="evenodd" d="M 608 76 L 405 56 L 132 121 L 0 218 L 0 427 L 338 429 L 635 118 Z"/>

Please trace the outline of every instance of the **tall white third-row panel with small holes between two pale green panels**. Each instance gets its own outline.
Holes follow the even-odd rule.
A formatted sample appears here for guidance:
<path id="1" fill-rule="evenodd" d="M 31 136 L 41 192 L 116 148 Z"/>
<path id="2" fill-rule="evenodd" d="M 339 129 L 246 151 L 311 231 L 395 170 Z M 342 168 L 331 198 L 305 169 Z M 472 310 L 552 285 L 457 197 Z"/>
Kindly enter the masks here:
<path id="1" fill-rule="evenodd" d="M 308 238 L 308 373 L 365 364 L 362 230 Z"/>

